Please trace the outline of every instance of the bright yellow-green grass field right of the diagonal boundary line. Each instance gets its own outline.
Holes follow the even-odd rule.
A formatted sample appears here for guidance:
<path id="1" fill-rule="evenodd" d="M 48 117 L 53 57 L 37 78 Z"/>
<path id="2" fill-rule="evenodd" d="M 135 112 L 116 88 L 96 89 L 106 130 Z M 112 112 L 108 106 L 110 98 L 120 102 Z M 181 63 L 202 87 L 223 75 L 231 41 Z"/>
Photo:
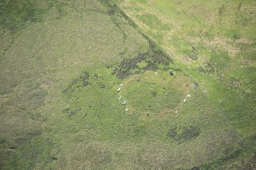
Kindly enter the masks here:
<path id="1" fill-rule="evenodd" d="M 255 107 L 252 103 L 255 102 L 255 76 L 252 74 L 255 65 L 250 57 L 255 48 L 254 34 L 251 34 L 254 31 L 254 12 L 251 11 L 254 2 L 125 1 L 120 6 L 134 18 L 144 34 L 173 55 L 178 68 L 199 82 L 199 88 L 211 101 L 199 105 L 198 111 L 195 106 L 203 101 L 184 107 L 186 113 L 205 111 L 197 118 L 207 117 L 204 120 L 206 123 L 203 120 L 199 123 L 206 131 L 207 127 L 214 126 L 216 120 L 218 123 L 215 123 L 222 129 L 230 124 L 241 136 L 254 136 Z M 248 14 L 249 11 L 251 14 Z M 151 16 L 150 21 L 144 20 L 145 15 Z M 241 18 L 248 19 L 242 21 Z M 155 27 L 154 23 L 158 23 L 159 27 Z M 170 27 L 163 30 L 160 23 Z M 211 115 L 215 115 L 215 119 Z M 186 114 L 184 120 L 192 117 Z M 221 125 L 221 122 L 226 124 Z M 237 164 L 240 161 L 234 159 Z M 228 165 L 228 161 L 212 168 L 224 168 L 225 164 Z M 201 168 L 209 169 L 210 166 Z"/>

